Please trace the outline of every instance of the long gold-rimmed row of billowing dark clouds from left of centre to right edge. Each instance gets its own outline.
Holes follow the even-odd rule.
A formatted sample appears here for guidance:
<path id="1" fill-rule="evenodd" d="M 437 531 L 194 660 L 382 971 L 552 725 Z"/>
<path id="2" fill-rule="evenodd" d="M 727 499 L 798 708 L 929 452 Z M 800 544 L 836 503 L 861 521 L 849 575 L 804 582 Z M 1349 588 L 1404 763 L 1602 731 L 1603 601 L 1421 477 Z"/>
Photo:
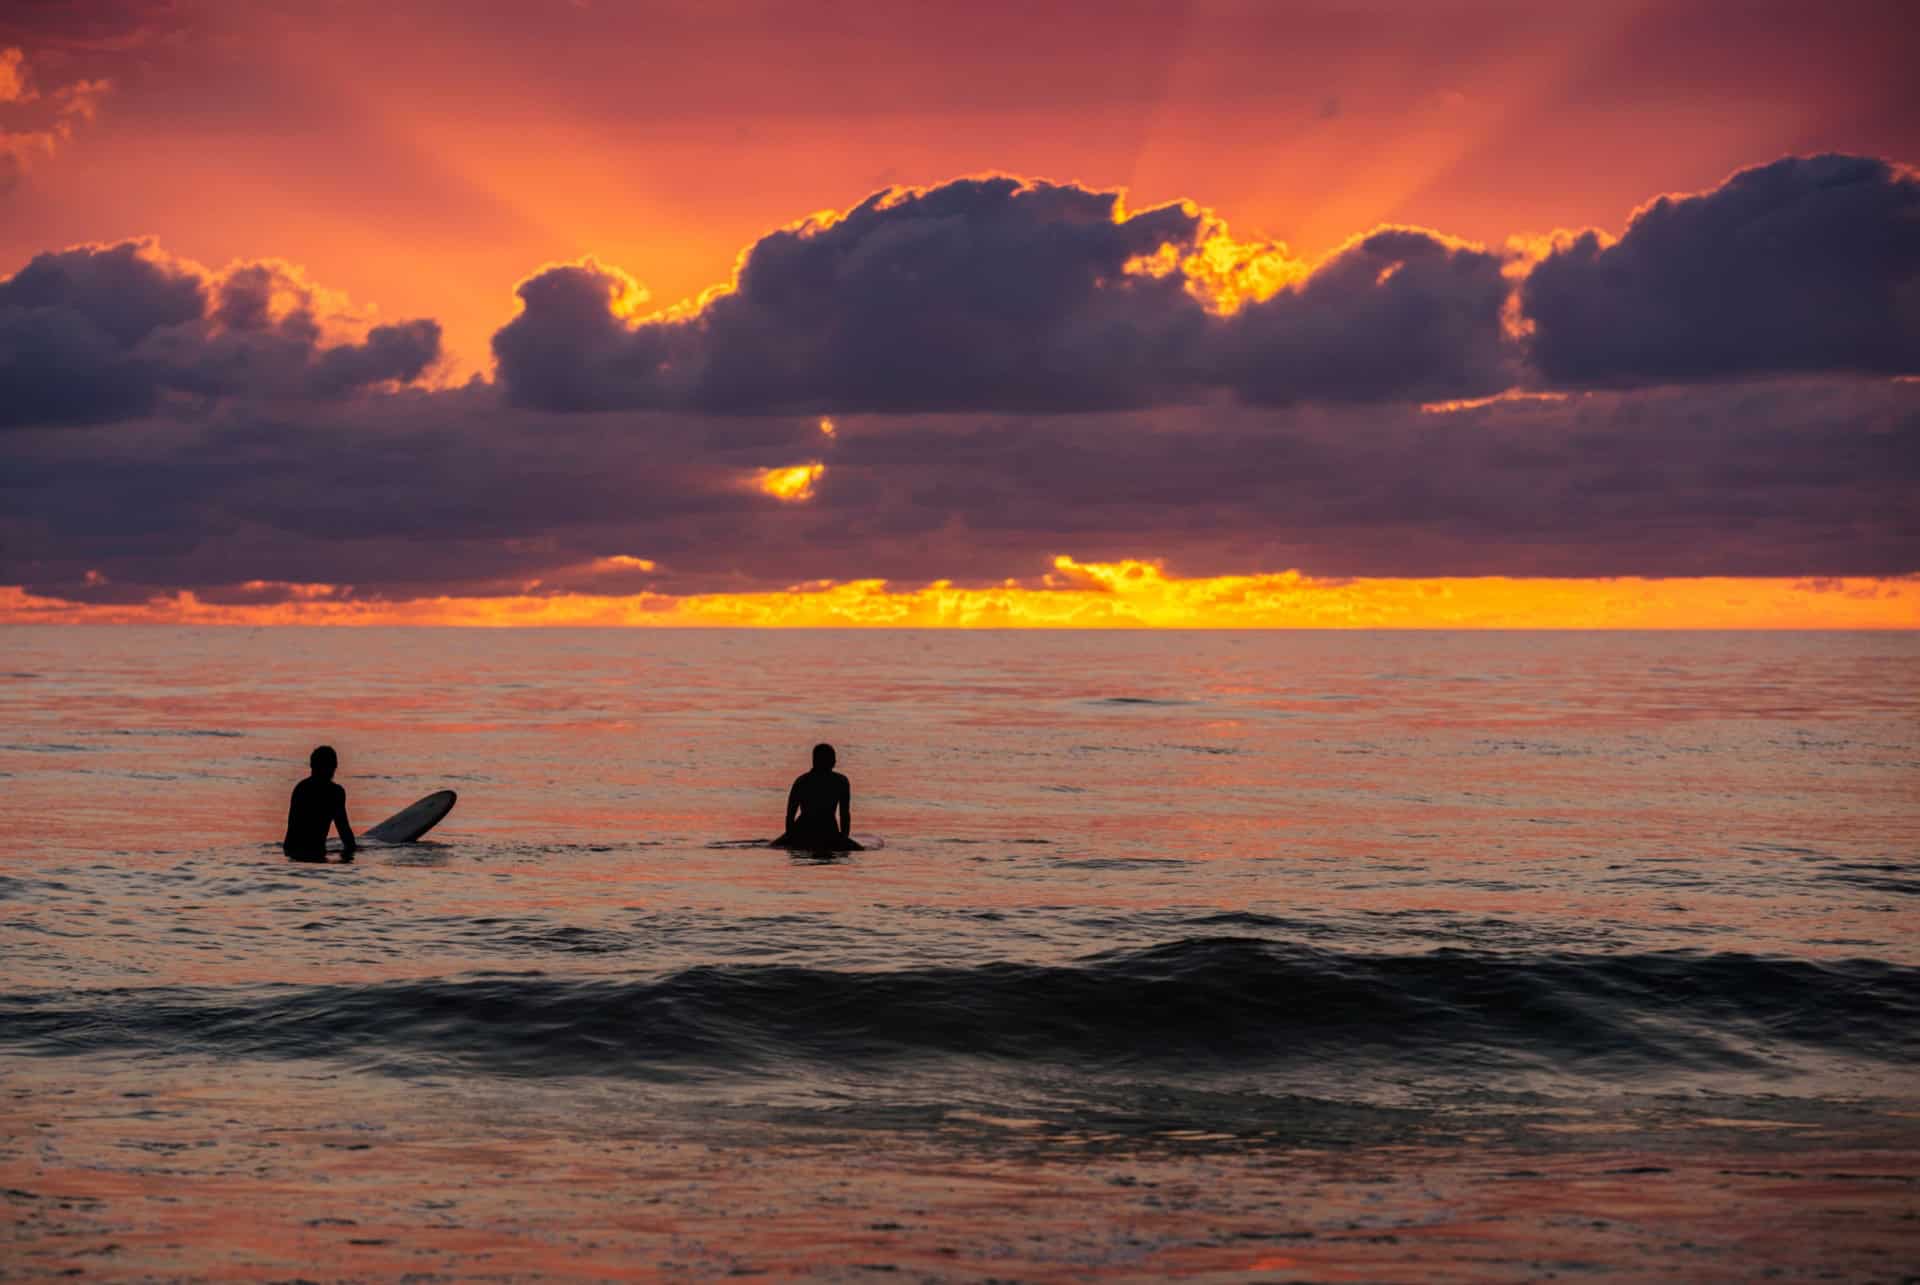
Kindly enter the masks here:
<path id="1" fill-rule="evenodd" d="M 1119 192 L 962 179 L 772 232 L 695 305 L 643 315 L 645 290 L 593 259 L 520 302 L 493 336 L 499 378 L 551 411 L 1069 413 L 1912 373 L 1920 177 L 1788 158 L 1530 265 L 1425 229 L 1306 265 L 1190 202 L 1129 213 Z"/>

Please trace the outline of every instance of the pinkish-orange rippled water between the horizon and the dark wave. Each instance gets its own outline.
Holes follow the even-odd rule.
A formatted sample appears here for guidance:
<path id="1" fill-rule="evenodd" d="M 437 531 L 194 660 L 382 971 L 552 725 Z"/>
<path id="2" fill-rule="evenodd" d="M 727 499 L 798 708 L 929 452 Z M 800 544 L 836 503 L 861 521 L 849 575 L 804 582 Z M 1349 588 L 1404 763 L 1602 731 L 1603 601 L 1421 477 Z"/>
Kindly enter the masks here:
<path id="1" fill-rule="evenodd" d="M 84 937 L 50 962 L 102 985 L 117 960 L 169 972 L 161 924 L 284 941 L 282 918 L 340 916 L 348 958 L 340 939 L 298 939 L 192 966 L 275 982 L 324 960 L 372 980 L 419 976 L 409 933 L 436 918 L 626 930 L 774 909 L 831 924 L 780 949 L 847 966 L 1062 960 L 1204 910 L 1371 951 L 1920 962 L 1910 636 L 6 642 L 36 676 L 0 686 L 15 836 L 0 868 L 60 885 L 33 893 L 33 926 Z M 833 695 L 806 709 L 795 690 Z M 791 882 L 787 857 L 726 843 L 780 830 L 791 764 L 820 736 L 885 849 Z M 296 874 L 261 843 L 319 741 L 340 747 L 361 824 L 447 784 L 461 805 L 432 847 Z M 689 932 L 657 933 L 666 955 L 639 962 L 724 949 Z M 426 972 L 488 962 L 474 949 Z"/>

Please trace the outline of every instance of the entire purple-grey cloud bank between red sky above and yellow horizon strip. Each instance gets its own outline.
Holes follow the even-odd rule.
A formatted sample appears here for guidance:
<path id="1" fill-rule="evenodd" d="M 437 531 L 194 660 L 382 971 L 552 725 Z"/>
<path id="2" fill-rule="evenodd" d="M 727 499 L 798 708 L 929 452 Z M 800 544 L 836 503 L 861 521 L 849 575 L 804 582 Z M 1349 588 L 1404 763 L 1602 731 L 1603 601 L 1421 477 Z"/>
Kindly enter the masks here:
<path id="1" fill-rule="evenodd" d="M 551 267 L 495 336 L 497 382 L 438 392 L 403 388 L 434 323 L 328 342 L 284 265 L 40 255 L 0 280 L 0 584 L 691 592 L 1029 576 L 1050 553 L 1920 569 L 1920 384 L 1889 378 L 1920 373 L 1907 171 L 1784 159 L 1530 267 L 1384 229 L 1233 313 L 1165 271 L 1208 215 L 1116 202 L 1002 179 L 876 196 L 641 323 L 614 271 Z M 1565 396 L 1419 409 L 1513 386 Z M 826 463 L 806 503 L 753 490 L 804 461 Z M 622 553 L 659 570 L 597 563 Z"/>

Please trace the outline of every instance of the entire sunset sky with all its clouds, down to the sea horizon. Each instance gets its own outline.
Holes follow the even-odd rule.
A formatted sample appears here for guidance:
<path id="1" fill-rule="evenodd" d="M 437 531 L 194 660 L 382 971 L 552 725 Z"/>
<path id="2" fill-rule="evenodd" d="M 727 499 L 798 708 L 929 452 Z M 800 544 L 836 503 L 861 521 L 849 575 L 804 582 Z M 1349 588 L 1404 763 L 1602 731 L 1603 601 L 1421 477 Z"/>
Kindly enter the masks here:
<path id="1" fill-rule="evenodd" d="M 0 8 L 0 620 L 1920 626 L 1910 4 Z"/>

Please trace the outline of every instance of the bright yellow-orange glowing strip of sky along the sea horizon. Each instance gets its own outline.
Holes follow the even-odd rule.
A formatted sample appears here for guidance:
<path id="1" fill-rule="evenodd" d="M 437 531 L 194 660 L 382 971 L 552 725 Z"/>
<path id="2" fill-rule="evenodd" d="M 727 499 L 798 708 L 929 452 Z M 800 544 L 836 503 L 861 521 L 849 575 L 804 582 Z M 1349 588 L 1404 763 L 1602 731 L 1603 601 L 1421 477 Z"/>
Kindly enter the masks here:
<path id="1" fill-rule="evenodd" d="M 647 559 L 603 559 L 647 569 Z M 273 586 L 242 586 L 250 592 Z M 515 594 L 357 599 L 284 586 L 275 603 L 75 603 L 0 588 L 0 622 L 71 624 L 447 624 L 737 628 L 1920 628 L 1920 576 L 1319 578 L 1298 570 L 1179 578 L 1160 563 L 1056 557 L 1029 582 L 910 588 L 822 580 L 747 594 Z"/>

